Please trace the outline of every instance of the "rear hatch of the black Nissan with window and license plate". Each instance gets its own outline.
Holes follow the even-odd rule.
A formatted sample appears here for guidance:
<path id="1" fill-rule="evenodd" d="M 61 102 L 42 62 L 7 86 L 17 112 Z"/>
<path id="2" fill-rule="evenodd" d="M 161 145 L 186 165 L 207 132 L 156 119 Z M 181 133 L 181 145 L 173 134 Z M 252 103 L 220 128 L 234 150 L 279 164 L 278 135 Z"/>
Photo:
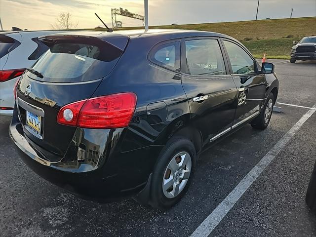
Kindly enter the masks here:
<path id="1" fill-rule="evenodd" d="M 111 36 L 111 43 L 106 36 L 53 35 L 40 40 L 49 50 L 32 72 L 22 75 L 16 90 L 18 111 L 24 133 L 42 149 L 63 157 L 76 127 L 57 123 L 60 108 L 92 96 L 115 67 L 128 37 L 121 36 L 118 46 Z"/>

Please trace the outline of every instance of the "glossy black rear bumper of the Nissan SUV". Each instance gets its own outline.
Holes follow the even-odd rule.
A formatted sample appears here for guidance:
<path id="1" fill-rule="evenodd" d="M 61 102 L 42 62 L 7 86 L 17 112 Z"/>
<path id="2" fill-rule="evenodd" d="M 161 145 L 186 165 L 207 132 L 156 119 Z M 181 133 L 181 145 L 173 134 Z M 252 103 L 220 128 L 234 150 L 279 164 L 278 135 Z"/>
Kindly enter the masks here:
<path id="1" fill-rule="evenodd" d="M 49 182 L 81 198 L 97 202 L 117 200 L 143 190 L 155 162 L 153 154 L 158 154 L 161 149 L 160 146 L 150 146 L 121 153 L 109 148 L 103 152 L 95 168 L 84 162 L 66 162 L 66 156 L 71 154 L 68 152 L 59 162 L 52 163 L 23 133 L 23 126 L 16 118 L 13 115 L 9 134 L 22 160 Z"/>

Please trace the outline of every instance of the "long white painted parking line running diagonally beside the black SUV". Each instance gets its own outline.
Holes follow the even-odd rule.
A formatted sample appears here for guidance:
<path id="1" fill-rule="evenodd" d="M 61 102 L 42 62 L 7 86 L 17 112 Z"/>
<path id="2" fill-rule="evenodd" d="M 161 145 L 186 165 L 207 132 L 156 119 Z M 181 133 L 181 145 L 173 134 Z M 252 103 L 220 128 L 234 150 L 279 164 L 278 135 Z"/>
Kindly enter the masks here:
<path id="1" fill-rule="evenodd" d="M 300 129 L 304 122 L 310 118 L 316 110 L 316 104 L 310 109 L 294 126 L 285 133 L 285 135 L 276 143 L 276 145 L 253 167 L 250 172 L 240 181 L 236 188 L 206 217 L 206 219 L 197 227 L 191 237 L 207 237 L 215 227 L 223 220 L 226 214 L 232 209 L 239 198 L 247 191 L 251 184 L 259 177 L 262 171 L 283 149 L 287 142 Z"/>

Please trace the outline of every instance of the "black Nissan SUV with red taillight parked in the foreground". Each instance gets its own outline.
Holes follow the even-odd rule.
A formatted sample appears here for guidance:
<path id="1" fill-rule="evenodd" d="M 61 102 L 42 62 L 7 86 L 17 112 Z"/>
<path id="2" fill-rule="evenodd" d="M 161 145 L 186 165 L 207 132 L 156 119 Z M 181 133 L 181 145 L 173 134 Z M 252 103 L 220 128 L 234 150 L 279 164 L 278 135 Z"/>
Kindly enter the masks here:
<path id="1" fill-rule="evenodd" d="M 36 173 L 80 197 L 134 197 L 166 209 L 197 156 L 251 123 L 268 126 L 278 92 L 237 40 L 182 30 L 40 38 L 49 50 L 15 86 L 9 128 Z M 246 146 L 245 146 L 246 149 Z"/>

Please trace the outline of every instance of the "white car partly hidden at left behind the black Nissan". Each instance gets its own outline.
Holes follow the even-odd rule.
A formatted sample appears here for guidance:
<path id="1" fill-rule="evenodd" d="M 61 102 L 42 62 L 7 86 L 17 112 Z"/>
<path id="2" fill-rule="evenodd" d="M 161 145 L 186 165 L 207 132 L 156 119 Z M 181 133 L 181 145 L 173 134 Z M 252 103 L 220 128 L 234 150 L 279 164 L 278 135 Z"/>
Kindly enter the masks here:
<path id="1" fill-rule="evenodd" d="M 12 116 L 15 82 L 48 49 L 38 37 L 61 32 L 69 31 L 0 32 L 0 115 Z"/>

